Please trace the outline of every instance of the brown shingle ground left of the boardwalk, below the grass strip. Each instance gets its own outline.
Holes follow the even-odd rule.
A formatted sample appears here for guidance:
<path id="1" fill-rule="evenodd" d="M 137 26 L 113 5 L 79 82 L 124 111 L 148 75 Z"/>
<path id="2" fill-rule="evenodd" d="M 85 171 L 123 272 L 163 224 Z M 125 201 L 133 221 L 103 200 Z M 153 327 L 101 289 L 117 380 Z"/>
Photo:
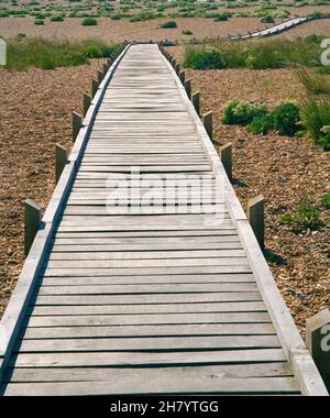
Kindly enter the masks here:
<path id="1" fill-rule="evenodd" d="M 55 186 L 54 145 L 72 146 L 73 110 L 102 61 L 29 72 L 0 70 L 0 316 L 23 262 L 23 201 L 46 207 Z"/>

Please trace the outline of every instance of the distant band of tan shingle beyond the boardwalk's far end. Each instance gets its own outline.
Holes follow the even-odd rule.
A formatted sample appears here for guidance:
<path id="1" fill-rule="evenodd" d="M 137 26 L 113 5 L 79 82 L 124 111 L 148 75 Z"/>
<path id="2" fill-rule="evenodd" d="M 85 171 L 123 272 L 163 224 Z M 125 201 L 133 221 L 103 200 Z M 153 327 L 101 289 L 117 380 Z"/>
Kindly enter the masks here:
<path id="1" fill-rule="evenodd" d="M 330 8 L 328 8 L 329 11 Z M 304 14 L 304 13 L 302 13 Z M 234 18 L 228 22 L 215 22 L 212 19 L 185 18 L 176 19 L 177 29 L 160 29 L 160 25 L 168 21 L 168 18 L 155 19 L 146 22 L 130 22 L 129 20 L 111 21 L 110 19 L 98 19 L 97 26 L 81 26 L 81 19 L 67 18 L 64 22 L 50 22 L 45 25 L 35 25 L 33 18 L 2 18 L 0 19 L 0 35 L 15 36 L 24 33 L 26 36 L 43 36 L 58 38 L 87 38 L 98 37 L 105 42 L 113 40 L 129 41 L 162 41 L 162 40 L 189 40 L 191 37 L 205 38 L 227 36 L 229 34 L 246 33 L 264 28 L 265 24 L 256 18 Z M 279 20 L 277 20 L 278 22 Z M 183 35 L 183 30 L 193 31 L 193 36 Z M 279 36 L 298 36 L 308 34 L 330 35 L 330 20 L 320 20 L 301 24 Z"/>

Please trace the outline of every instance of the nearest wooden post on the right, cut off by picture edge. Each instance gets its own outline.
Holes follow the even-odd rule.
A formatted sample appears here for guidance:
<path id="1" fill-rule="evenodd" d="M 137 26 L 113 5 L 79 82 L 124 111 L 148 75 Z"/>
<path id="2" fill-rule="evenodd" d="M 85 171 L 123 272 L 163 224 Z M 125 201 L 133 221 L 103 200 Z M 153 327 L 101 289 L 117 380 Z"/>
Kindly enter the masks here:
<path id="1" fill-rule="evenodd" d="M 330 310 L 323 309 L 306 321 L 306 345 L 330 388 Z"/>

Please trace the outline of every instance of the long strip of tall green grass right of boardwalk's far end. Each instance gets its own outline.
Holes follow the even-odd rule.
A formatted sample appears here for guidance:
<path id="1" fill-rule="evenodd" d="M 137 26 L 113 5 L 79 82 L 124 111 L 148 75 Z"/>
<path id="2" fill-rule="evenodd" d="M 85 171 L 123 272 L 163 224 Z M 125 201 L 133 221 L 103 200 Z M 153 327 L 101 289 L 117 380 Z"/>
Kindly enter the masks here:
<path id="1" fill-rule="evenodd" d="M 194 52 L 194 48 L 196 52 Z M 242 42 L 217 41 L 209 44 L 187 46 L 184 65 L 197 68 L 195 59 L 200 62 L 209 51 L 218 52 L 222 61 L 219 68 L 280 68 L 290 66 L 321 67 L 319 45 L 306 38 L 288 40 L 251 40 Z M 208 67 L 202 67 L 206 69 Z M 212 68 L 215 68 L 212 66 Z"/>

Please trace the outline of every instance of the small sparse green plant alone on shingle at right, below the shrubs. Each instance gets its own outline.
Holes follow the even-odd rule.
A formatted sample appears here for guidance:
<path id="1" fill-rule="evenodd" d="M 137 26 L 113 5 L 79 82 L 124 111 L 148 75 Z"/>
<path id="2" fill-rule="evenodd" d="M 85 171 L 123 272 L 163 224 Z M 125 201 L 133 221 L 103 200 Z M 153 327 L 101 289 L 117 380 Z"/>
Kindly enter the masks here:
<path id="1" fill-rule="evenodd" d="M 317 231 L 323 227 L 320 213 L 320 209 L 311 205 L 308 197 L 304 196 L 296 213 L 280 217 L 279 223 L 290 226 L 295 233 Z"/>

